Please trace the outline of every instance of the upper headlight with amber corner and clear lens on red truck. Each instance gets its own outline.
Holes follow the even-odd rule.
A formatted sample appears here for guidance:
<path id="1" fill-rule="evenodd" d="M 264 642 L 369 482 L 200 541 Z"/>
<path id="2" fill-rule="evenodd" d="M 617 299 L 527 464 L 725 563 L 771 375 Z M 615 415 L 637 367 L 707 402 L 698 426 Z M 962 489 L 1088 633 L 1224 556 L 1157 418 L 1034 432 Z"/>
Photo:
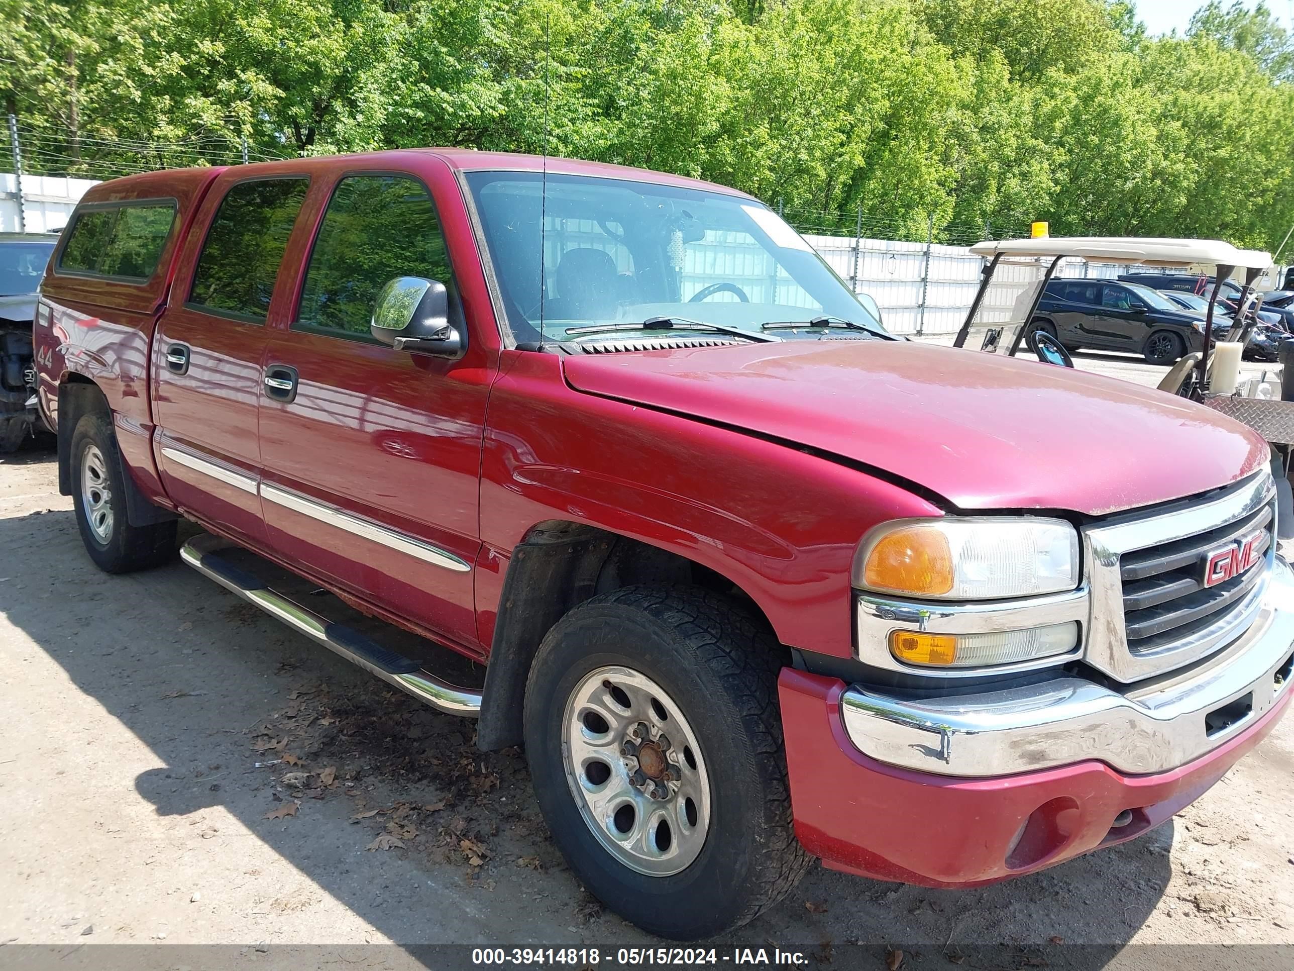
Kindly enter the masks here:
<path id="1" fill-rule="evenodd" d="M 1078 532 L 1064 519 L 976 517 L 877 526 L 854 586 L 930 599 L 1031 597 L 1078 586 Z"/>

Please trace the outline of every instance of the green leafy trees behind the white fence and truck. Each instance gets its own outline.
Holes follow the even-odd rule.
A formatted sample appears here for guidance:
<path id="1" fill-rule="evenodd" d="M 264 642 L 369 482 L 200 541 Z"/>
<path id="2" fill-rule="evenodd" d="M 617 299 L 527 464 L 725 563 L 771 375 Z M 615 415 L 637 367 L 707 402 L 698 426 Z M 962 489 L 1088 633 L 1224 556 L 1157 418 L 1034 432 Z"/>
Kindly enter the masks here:
<path id="1" fill-rule="evenodd" d="M 1294 221 L 1262 4 L 1148 39 L 1114 0 L 0 0 L 0 92 L 49 171 L 110 139 L 546 145 L 894 234 Z"/>

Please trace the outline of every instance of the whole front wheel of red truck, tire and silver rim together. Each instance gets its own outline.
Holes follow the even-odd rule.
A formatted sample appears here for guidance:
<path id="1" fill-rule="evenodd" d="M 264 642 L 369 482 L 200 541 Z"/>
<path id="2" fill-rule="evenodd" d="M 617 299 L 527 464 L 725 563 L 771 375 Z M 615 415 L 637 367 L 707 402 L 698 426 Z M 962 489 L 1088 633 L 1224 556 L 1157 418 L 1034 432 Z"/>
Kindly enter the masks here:
<path id="1" fill-rule="evenodd" d="M 525 751 L 553 839 L 626 921 L 696 940 L 804 874 L 776 703 L 780 647 L 691 586 L 594 597 L 543 638 Z"/>

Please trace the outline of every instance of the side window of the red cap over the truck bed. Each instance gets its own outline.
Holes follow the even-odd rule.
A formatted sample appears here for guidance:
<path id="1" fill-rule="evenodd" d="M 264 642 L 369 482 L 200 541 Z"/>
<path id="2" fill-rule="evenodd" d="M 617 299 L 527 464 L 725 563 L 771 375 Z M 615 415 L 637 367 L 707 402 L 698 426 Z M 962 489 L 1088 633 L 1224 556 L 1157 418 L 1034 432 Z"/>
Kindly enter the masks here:
<path id="1" fill-rule="evenodd" d="M 84 210 L 67 230 L 58 269 L 145 281 L 158 268 L 172 223 L 173 202 Z"/>

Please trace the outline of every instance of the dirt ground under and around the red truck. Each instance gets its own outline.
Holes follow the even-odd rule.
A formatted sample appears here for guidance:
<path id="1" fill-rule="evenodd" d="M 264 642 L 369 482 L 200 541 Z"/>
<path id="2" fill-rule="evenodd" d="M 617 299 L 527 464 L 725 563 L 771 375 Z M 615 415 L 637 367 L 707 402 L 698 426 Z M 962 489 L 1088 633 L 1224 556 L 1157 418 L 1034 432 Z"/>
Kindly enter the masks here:
<path id="1" fill-rule="evenodd" d="M 239 961 L 399 944 L 414 966 L 421 944 L 660 944 L 582 891 L 524 759 L 479 753 L 471 721 L 179 562 L 98 572 L 52 449 L 0 462 L 0 966 L 36 966 L 26 944 L 237 944 Z M 862 948 L 861 966 L 892 968 L 982 967 L 967 954 L 985 945 L 1011 967 L 1064 966 L 1073 945 L 1102 945 L 1102 965 L 1130 943 L 1294 945 L 1291 770 L 1288 719 L 1140 840 L 964 892 L 814 869 L 714 944 L 848 966 Z M 294 966 L 333 966 L 324 953 Z M 1188 963 L 1227 950 L 1205 953 Z"/>

